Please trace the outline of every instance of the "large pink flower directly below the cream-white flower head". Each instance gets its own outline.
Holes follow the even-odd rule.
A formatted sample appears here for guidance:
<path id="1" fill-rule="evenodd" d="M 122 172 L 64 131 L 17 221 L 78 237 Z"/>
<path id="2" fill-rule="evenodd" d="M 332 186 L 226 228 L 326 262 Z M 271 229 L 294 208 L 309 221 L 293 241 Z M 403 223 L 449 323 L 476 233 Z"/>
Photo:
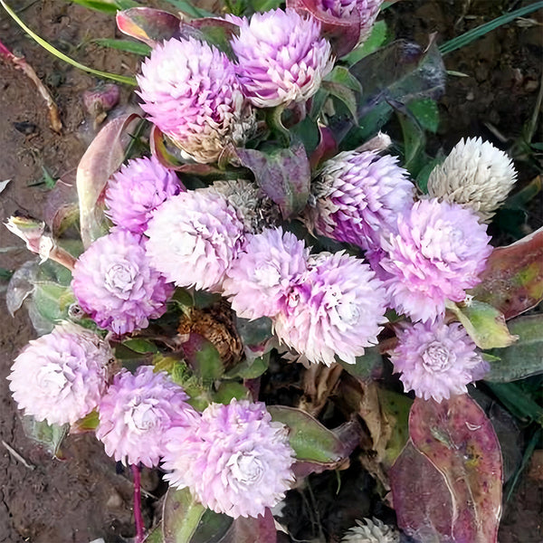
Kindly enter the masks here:
<path id="1" fill-rule="evenodd" d="M 389 303 L 413 321 L 442 317 L 445 300 L 462 301 L 479 284 L 492 252 L 486 226 L 461 205 L 421 200 L 398 217 L 398 233 L 379 262 Z"/>

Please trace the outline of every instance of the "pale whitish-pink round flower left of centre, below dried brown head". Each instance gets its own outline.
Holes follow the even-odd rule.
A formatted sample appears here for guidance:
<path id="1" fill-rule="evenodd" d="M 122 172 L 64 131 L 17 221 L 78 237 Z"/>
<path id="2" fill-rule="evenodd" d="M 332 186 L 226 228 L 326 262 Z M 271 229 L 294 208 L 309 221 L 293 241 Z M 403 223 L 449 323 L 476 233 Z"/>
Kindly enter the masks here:
<path id="1" fill-rule="evenodd" d="M 168 281 L 218 291 L 241 246 L 243 224 L 224 196 L 202 189 L 160 205 L 146 234 L 148 257 Z"/>

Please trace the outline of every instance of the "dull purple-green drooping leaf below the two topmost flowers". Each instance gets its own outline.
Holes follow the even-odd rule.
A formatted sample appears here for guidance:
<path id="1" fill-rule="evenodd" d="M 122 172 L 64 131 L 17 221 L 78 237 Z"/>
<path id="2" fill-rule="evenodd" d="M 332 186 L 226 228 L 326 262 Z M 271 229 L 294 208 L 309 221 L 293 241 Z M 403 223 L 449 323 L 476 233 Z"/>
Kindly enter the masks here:
<path id="1" fill-rule="evenodd" d="M 248 167 L 262 191 L 279 205 L 284 219 L 300 213 L 310 195 L 310 161 L 301 143 L 263 153 L 236 149 L 242 166 Z"/>

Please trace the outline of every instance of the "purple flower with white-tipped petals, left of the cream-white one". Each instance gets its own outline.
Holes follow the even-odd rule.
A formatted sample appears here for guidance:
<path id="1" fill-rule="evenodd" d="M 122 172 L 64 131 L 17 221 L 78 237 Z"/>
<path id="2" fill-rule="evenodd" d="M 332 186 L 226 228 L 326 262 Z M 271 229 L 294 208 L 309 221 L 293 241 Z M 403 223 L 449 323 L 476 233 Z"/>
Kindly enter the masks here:
<path id="1" fill-rule="evenodd" d="M 324 163 L 311 193 L 310 229 L 373 249 L 381 246 L 382 236 L 397 232 L 397 215 L 413 205 L 414 185 L 397 158 L 346 151 Z"/>

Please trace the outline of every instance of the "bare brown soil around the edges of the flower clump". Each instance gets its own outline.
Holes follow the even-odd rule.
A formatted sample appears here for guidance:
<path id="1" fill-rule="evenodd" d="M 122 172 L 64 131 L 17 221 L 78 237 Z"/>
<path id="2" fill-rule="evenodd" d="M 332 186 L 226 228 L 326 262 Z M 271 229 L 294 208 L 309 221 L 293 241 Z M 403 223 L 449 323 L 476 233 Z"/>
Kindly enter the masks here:
<path id="1" fill-rule="evenodd" d="M 12 5 L 15 5 L 12 2 Z M 132 55 L 111 52 L 92 45 L 95 37 L 113 37 L 112 17 L 90 12 L 63 0 L 21 2 L 19 14 L 38 34 L 80 62 L 104 71 L 130 74 L 138 62 Z M 396 35 L 427 42 L 438 32 L 443 42 L 477 26 L 503 11 L 529 2 L 503 0 L 401 1 L 389 8 L 386 20 Z M 482 136 L 500 148 L 510 148 L 531 118 L 538 95 L 543 55 L 543 13 L 530 14 L 535 24 L 509 24 L 477 43 L 445 57 L 448 70 L 468 77 L 451 77 L 447 94 L 440 101 L 442 123 L 431 150 L 447 152 L 461 138 Z M 16 54 L 24 55 L 49 88 L 62 112 L 64 129 L 55 134 L 47 110 L 33 83 L 21 71 L 0 62 L 0 181 L 11 179 L 0 195 L 0 217 L 15 210 L 43 216 L 47 190 L 29 186 L 43 177 L 43 168 L 53 177 L 72 182 L 75 167 L 92 133 L 81 93 L 98 80 L 57 61 L 22 33 L 0 11 L 0 39 Z M 129 100 L 123 90 L 120 108 Z M 27 123 L 27 134 L 14 123 Z M 19 126 L 20 128 L 20 126 Z M 540 125 L 534 141 L 542 141 Z M 520 160 L 519 181 L 527 183 L 538 173 L 537 159 Z M 533 204 L 529 228 L 541 226 L 541 200 Z M 14 270 L 30 258 L 22 243 L 5 228 L 0 229 L 0 267 Z M 5 282 L 0 283 L 5 290 Z M 52 459 L 41 446 L 24 436 L 19 414 L 9 394 L 5 376 L 17 353 L 34 337 L 24 311 L 15 318 L 0 298 L 0 439 L 33 466 L 14 458 L 0 444 L 0 543 L 88 543 L 104 538 L 106 543 L 133 537 L 132 485 L 128 472 L 119 472 L 92 435 L 72 435 L 63 445 L 64 460 Z M 147 477 L 152 492 L 157 480 Z M 543 541 L 543 486 L 537 478 L 524 476 L 519 491 L 506 507 L 500 529 L 501 543 Z M 150 521 L 151 510 L 144 514 Z"/>

